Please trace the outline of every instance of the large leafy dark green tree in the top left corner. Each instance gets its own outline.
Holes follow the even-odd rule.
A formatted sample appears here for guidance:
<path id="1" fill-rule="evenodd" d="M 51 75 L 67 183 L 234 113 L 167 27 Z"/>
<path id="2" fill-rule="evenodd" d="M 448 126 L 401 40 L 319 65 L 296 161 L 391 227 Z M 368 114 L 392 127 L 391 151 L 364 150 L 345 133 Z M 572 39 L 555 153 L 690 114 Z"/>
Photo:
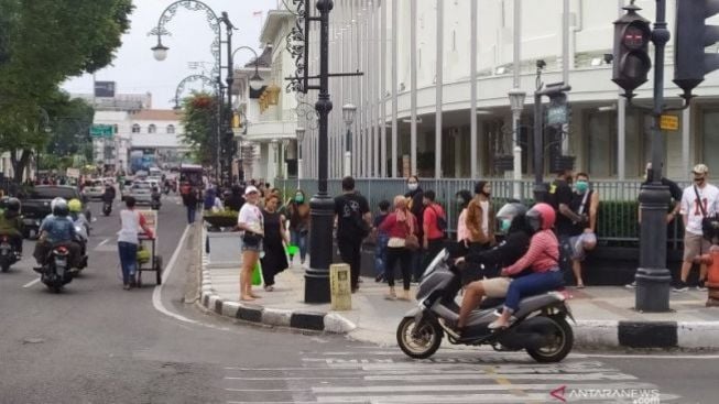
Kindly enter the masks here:
<path id="1" fill-rule="evenodd" d="M 133 6 L 131 0 L 0 0 L 0 10 L 6 61 L 0 63 L 0 152 L 11 152 L 20 181 L 34 151 L 47 142 L 47 121 L 59 117 L 50 112 L 63 102 L 48 100 L 68 77 L 111 63 Z"/>

